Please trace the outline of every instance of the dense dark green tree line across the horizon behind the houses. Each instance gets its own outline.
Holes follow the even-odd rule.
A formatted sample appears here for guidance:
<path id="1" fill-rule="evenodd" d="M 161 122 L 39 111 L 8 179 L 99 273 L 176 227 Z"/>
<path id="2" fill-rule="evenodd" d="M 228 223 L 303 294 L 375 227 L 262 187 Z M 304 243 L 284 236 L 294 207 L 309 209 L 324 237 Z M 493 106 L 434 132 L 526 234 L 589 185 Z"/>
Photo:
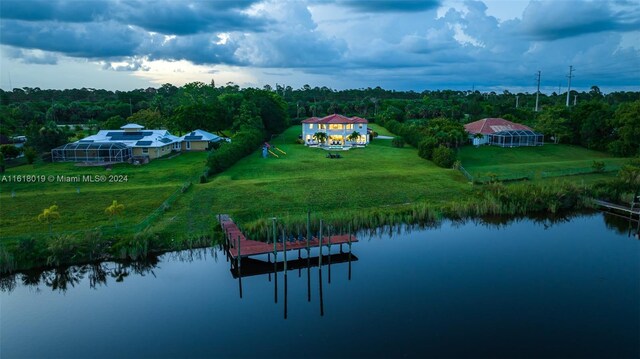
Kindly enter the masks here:
<path id="1" fill-rule="evenodd" d="M 22 88 L 0 90 L 0 135 L 27 135 L 32 145 L 46 151 L 83 135 L 81 130 L 118 128 L 127 122 L 175 134 L 195 128 L 235 132 L 242 126 L 277 133 L 286 127 L 287 117 L 301 120 L 331 113 L 414 127 L 435 119 L 465 124 L 502 117 L 543 132 L 547 141 L 625 156 L 640 152 L 639 92 L 603 94 L 592 86 L 588 92 L 571 91 L 569 98 L 567 107 L 566 93 L 540 94 L 536 111 L 535 93 L 509 91 L 337 91 L 309 85 L 240 89 L 232 83 L 215 87 L 199 82 L 132 91 Z M 398 134 L 407 143 L 419 145 L 411 137 L 422 131 L 404 132 Z"/>

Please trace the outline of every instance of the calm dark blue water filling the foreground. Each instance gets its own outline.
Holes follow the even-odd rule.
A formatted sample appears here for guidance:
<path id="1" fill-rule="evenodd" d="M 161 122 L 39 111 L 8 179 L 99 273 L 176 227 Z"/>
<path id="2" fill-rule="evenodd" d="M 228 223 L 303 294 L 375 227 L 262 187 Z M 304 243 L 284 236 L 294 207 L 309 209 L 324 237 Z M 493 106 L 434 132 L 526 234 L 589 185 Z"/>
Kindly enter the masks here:
<path id="1" fill-rule="evenodd" d="M 240 283 L 218 249 L 5 277 L 0 356 L 637 358 L 625 228 L 595 214 L 360 233 L 350 264 L 322 267 L 322 297 L 317 266 L 289 270 L 285 296 L 284 273 L 277 290 L 273 274 Z"/>

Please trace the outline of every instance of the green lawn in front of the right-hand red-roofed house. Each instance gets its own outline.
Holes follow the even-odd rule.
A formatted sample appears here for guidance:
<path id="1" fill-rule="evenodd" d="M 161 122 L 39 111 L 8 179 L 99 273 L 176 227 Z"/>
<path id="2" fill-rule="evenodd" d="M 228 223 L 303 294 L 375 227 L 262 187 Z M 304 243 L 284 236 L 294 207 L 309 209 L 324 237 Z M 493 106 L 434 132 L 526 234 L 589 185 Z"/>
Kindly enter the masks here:
<path id="1" fill-rule="evenodd" d="M 541 147 L 501 148 L 465 146 L 458 153 L 462 166 L 473 176 L 499 179 L 559 177 L 591 170 L 593 161 L 605 163 L 605 170 L 617 170 L 628 159 L 578 146 L 547 144 Z"/>

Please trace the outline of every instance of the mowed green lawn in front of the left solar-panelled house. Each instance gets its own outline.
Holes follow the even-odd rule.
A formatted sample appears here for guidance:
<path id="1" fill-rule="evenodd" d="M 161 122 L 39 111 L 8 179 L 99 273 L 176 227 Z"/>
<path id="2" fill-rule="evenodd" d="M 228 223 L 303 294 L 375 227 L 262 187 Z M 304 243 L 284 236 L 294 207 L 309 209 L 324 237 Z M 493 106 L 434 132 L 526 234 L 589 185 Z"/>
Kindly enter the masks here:
<path id="1" fill-rule="evenodd" d="M 0 238 L 48 232 L 39 223 L 38 214 L 56 204 L 60 219 L 53 224 L 54 232 L 87 230 L 110 226 L 113 222 L 104 213 L 113 200 L 125 206 L 118 218 L 119 226 L 133 226 L 156 210 L 172 193 L 188 180 L 196 180 L 203 172 L 206 153 L 185 153 L 174 158 L 158 159 L 144 166 L 119 164 L 110 171 L 104 167 L 78 167 L 72 163 L 48 163 L 20 166 L 2 176 L 127 176 L 117 183 L 0 183 Z M 78 193 L 79 190 L 79 193 Z M 15 197 L 12 195 L 15 194 Z"/>

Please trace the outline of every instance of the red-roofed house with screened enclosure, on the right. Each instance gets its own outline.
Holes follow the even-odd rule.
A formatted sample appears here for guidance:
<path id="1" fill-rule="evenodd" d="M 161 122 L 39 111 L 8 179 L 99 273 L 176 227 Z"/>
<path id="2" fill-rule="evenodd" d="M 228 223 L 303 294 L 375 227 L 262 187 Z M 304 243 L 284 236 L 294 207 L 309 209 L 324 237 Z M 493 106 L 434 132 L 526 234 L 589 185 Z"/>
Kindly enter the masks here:
<path id="1" fill-rule="evenodd" d="M 544 145 L 544 135 L 530 127 L 503 118 L 485 118 L 464 125 L 475 145 L 522 147 Z"/>

